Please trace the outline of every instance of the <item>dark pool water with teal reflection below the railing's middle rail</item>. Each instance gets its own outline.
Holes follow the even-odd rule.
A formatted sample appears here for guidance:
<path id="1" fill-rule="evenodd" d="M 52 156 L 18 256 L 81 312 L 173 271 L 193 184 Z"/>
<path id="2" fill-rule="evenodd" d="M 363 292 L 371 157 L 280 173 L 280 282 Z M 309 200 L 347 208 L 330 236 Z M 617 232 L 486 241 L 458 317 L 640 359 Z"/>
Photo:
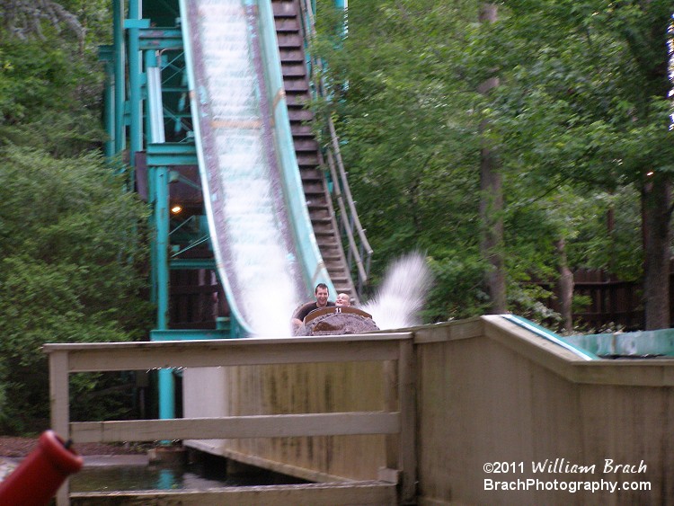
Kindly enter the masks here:
<path id="1" fill-rule="evenodd" d="M 226 466 L 91 466 L 70 478 L 72 492 L 121 490 L 204 490 L 214 487 L 262 484 L 253 475 L 227 477 Z"/>

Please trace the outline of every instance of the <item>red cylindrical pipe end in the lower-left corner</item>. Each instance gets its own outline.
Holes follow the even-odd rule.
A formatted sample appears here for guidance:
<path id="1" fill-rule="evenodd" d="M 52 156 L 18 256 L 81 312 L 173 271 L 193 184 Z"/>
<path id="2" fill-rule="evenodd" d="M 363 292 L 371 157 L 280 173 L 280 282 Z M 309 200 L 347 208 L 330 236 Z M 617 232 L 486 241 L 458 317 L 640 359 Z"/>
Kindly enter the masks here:
<path id="1" fill-rule="evenodd" d="M 66 481 L 80 470 L 84 460 L 54 431 L 44 431 L 38 447 L 0 482 L 3 506 L 47 506 Z"/>

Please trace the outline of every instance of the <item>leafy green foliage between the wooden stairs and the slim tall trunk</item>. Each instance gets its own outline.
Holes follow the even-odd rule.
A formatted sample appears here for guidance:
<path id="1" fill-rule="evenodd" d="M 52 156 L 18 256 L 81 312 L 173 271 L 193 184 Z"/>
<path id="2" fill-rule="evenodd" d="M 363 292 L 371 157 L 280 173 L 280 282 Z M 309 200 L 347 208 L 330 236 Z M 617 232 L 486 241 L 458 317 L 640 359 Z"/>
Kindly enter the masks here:
<path id="1" fill-rule="evenodd" d="M 429 317 L 481 311 L 477 266 L 484 265 L 474 219 L 480 139 L 476 117 L 466 120 L 477 92 L 462 68 L 448 63 L 463 58 L 477 5 L 362 2 L 349 16 L 340 49 L 333 49 L 332 22 L 320 49 L 329 64 L 342 155 L 377 252 L 375 283 L 393 258 L 421 249 L 444 287 Z M 456 34 L 448 35 L 448 27 Z M 457 295 L 446 304 L 448 285 L 456 283 L 467 289 L 463 300 Z"/>

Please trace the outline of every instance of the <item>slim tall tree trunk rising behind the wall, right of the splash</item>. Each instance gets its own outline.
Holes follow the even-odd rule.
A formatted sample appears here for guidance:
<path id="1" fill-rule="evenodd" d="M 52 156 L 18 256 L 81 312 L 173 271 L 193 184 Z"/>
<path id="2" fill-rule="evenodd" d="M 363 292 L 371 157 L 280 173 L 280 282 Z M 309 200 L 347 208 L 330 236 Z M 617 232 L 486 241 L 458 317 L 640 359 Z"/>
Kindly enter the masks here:
<path id="1" fill-rule="evenodd" d="M 482 4 L 480 22 L 495 22 L 496 4 Z M 487 79 L 478 87 L 478 92 L 486 94 L 499 85 L 499 78 Z M 481 131 L 487 123 L 480 125 Z M 480 220 L 482 236 L 480 252 L 489 264 L 485 273 L 487 293 L 492 301 L 490 312 L 501 314 L 507 311 L 505 262 L 503 260 L 503 182 L 498 157 L 486 141 L 480 153 Z"/>

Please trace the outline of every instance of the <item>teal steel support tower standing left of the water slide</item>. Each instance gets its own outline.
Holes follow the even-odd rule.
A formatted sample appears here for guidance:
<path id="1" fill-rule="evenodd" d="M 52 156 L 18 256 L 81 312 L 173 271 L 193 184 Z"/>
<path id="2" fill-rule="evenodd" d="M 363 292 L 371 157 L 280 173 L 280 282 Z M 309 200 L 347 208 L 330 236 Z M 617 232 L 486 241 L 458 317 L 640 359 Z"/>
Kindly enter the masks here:
<path id="1" fill-rule="evenodd" d="M 245 0 L 256 4 L 257 0 Z M 146 0 L 147 4 L 147 0 Z M 216 331 L 169 330 L 169 270 L 213 269 L 214 261 L 170 259 L 169 183 L 173 165 L 198 164 L 190 135 L 181 143 L 165 142 L 167 114 L 162 93 L 162 69 L 171 66 L 167 50 L 182 49 L 180 27 L 151 27 L 143 18 L 143 0 L 112 0 L 113 43 L 102 46 L 100 60 L 105 65 L 104 126 L 108 139 L 104 146 L 108 160 L 128 150 L 129 181 L 136 177 L 136 155 L 146 152 L 147 201 L 152 208 L 151 226 L 151 298 L 156 305 L 155 330 L 150 339 L 226 339 L 244 336 L 244 328 L 235 318 L 220 318 Z M 188 41 L 189 42 L 189 41 Z M 173 69 L 174 70 L 174 69 Z M 186 80 L 186 76 L 183 81 Z M 171 84 L 169 84 L 171 86 Z M 174 85 L 173 85 L 174 87 Z M 128 127 L 128 129 L 127 129 Z M 179 130 L 176 129 L 176 133 Z M 129 145 L 127 145 L 129 144 Z M 130 185 L 131 188 L 133 184 Z M 175 417 L 173 369 L 160 369 L 159 418 Z"/>

